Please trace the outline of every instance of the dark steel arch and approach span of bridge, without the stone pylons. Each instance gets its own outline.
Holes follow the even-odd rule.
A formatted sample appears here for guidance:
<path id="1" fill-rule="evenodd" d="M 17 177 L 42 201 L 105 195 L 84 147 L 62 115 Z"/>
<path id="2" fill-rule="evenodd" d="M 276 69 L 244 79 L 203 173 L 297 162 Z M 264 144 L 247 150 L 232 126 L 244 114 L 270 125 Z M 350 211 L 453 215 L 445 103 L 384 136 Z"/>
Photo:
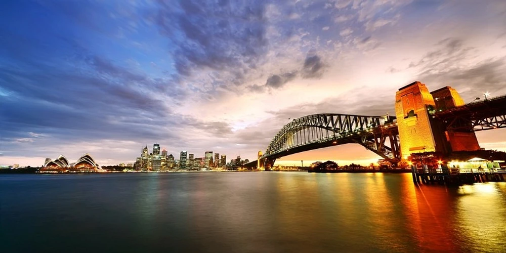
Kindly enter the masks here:
<path id="1" fill-rule="evenodd" d="M 506 128 L 506 95 L 435 112 L 447 131 L 469 132 Z M 302 134 L 301 134 L 302 133 Z M 347 114 L 313 114 L 283 126 L 260 159 L 266 167 L 283 156 L 318 148 L 357 143 L 379 156 L 400 160 L 399 131 L 395 117 Z M 257 168 L 258 160 L 244 165 Z"/>

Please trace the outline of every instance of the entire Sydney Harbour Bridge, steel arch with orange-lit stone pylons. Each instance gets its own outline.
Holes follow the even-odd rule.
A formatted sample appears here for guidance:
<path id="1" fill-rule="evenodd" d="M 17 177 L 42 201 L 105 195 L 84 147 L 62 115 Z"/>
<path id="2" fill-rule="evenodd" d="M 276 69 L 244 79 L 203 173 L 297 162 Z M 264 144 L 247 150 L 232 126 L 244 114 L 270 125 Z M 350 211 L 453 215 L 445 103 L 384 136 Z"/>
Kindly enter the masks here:
<path id="1" fill-rule="evenodd" d="M 269 170 L 283 156 L 348 143 L 395 164 L 411 153 L 478 150 L 476 131 L 506 128 L 506 95 L 465 104 L 451 87 L 429 92 L 418 81 L 399 89 L 395 111 L 396 116 L 320 113 L 293 119 L 245 166 Z"/>

